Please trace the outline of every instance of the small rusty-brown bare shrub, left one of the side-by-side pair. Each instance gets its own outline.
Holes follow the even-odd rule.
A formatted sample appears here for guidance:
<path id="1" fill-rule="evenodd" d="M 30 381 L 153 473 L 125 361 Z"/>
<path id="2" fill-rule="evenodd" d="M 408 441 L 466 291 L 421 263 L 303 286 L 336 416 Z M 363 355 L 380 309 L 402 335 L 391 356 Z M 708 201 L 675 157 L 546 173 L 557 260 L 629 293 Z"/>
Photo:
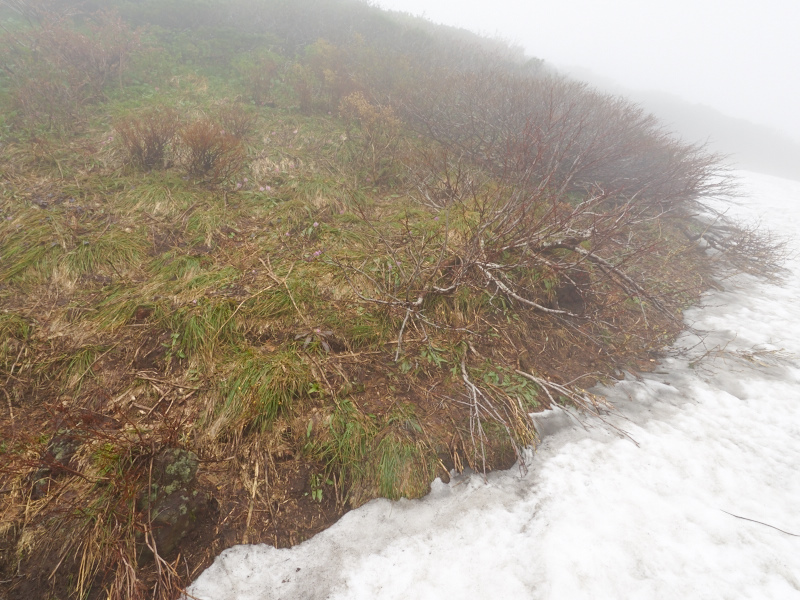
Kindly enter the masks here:
<path id="1" fill-rule="evenodd" d="M 149 171 L 167 166 L 167 152 L 178 129 L 178 114 L 170 108 L 151 109 L 114 124 L 128 159 Z"/>

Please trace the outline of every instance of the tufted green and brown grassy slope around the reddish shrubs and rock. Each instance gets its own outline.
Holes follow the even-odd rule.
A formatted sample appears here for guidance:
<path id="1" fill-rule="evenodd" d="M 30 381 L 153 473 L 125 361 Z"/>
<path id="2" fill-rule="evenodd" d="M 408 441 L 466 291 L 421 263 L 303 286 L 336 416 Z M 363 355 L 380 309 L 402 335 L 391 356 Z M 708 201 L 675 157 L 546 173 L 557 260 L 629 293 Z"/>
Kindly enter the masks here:
<path id="1" fill-rule="evenodd" d="M 584 388 L 646 368 L 704 287 L 707 261 L 682 233 L 695 227 L 683 209 L 642 205 L 629 218 L 631 194 L 620 192 L 575 216 L 591 186 L 494 170 L 485 146 L 443 140 L 402 102 L 389 108 L 393 95 L 416 101 L 408 90 L 430 82 L 415 75 L 430 63 L 463 69 L 453 64 L 465 60 L 461 42 L 337 5 L 337 19 L 366 22 L 353 41 L 335 22 L 298 29 L 307 13 L 293 6 L 272 7 L 268 34 L 211 28 L 218 18 L 201 10 L 197 31 L 177 32 L 165 8 L 102 98 L 81 96 L 60 71 L 75 104 L 55 120 L 14 104 L 21 83 L 4 82 L 15 112 L 0 183 L 0 566 L 12 597 L 167 597 L 233 543 L 297 543 L 370 498 L 421 496 L 451 468 L 507 468 L 535 441 L 526 413 L 596 408 Z M 156 15 L 148 3 L 120 10 L 131 23 Z M 326 32 L 331 41 L 317 42 Z M 204 180 L 180 136 L 164 168 L 137 168 L 120 123 L 153 107 L 181 126 L 239 123 L 238 170 Z M 435 192 L 453 187 L 455 167 L 444 161 L 447 176 L 431 183 L 443 152 L 467 157 L 450 204 Z M 554 232 L 538 262 L 492 249 L 489 236 L 480 248 L 494 258 L 468 263 L 475 240 L 505 226 L 487 216 L 493 203 L 520 189 L 541 198 L 524 218 Z M 568 219 L 569 230 L 556 226 Z M 605 237 L 569 249 L 566 234 L 587 223 Z M 605 266 L 591 260 L 601 248 Z M 48 452 L 64 435 L 78 449 L 54 469 Z M 148 527 L 137 498 L 165 446 L 200 456 L 219 508 L 172 575 L 152 561 L 129 568 Z"/>

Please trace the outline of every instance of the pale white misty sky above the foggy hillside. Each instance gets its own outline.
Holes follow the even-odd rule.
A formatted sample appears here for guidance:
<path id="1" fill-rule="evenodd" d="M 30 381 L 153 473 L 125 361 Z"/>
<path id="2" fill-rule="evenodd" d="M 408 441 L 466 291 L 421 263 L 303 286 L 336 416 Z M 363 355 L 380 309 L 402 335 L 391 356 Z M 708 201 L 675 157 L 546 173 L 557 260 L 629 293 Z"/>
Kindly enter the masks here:
<path id="1" fill-rule="evenodd" d="M 800 0 L 374 0 L 800 141 Z"/>

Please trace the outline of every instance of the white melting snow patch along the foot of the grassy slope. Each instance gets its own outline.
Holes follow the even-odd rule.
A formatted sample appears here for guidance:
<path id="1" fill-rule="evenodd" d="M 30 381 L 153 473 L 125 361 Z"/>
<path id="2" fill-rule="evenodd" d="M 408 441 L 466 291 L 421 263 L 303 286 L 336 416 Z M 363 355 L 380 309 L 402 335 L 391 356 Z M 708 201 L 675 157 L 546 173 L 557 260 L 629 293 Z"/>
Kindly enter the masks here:
<path id="1" fill-rule="evenodd" d="M 732 212 L 794 236 L 800 182 L 743 176 L 749 199 Z M 729 354 L 695 368 L 669 358 L 604 390 L 638 446 L 542 416 L 526 475 L 437 480 L 421 500 L 372 501 L 292 549 L 231 548 L 190 594 L 800 598 L 800 537 L 773 528 L 800 534 L 800 259 L 789 266 L 779 285 L 738 276 L 687 312 Z M 784 354 L 732 354 L 754 347 Z"/>

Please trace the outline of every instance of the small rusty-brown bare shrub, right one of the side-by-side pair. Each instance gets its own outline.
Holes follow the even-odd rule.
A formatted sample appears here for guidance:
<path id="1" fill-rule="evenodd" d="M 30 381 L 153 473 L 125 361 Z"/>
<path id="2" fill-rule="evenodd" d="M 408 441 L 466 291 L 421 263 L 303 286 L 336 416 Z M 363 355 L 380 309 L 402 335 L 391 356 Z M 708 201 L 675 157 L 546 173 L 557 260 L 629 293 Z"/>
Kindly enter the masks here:
<path id="1" fill-rule="evenodd" d="M 209 184 L 232 177 L 244 163 L 242 142 L 210 119 L 199 119 L 180 131 L 183 166 L 189 176 Z"/>

